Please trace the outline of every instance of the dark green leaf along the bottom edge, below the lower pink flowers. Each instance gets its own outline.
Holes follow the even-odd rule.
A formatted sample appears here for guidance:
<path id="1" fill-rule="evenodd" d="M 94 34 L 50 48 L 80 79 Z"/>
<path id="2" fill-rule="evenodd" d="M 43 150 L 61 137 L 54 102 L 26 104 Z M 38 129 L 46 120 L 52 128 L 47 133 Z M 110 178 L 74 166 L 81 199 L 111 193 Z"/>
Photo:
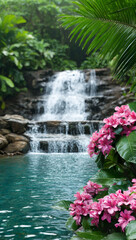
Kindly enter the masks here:
<path id="1" fill-rule="evenodd" d="M 76 234 L 80 238 L 90 240 L 102 240 L 105 236 L 102 232 L 99 231 L 76 232 Z"/>

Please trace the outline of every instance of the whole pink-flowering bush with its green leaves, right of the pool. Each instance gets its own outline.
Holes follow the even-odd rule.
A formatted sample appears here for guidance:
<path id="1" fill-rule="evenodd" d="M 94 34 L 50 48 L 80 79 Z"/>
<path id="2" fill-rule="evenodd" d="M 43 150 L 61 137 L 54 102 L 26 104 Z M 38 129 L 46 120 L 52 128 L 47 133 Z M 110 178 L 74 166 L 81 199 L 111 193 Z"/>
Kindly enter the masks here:
<path id="1" fill-rule="evenodd" d="M 90 156 L 97 155 L 98 173 L 74 203 L 57 205 L 70 211 L 66 226 L 76 231 L 72 240 L 136 238 L 136 103 L 115 110 L 88 146 Z"/>

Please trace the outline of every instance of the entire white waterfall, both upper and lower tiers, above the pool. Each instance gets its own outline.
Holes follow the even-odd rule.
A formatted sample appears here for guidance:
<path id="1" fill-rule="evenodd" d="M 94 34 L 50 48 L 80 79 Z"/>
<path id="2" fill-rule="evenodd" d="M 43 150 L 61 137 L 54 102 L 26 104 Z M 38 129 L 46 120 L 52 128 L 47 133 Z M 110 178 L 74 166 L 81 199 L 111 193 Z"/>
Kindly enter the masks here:
<path id="1" fill-rule="evenodd" d="M 79 70 L 53 75 L 38 104 L 36 122 L 30 126 L 32 152 L 86 152 L 93 125 L 87 121 L 85 99 L 96 96 L 95 70 L 88 81 Z"/>

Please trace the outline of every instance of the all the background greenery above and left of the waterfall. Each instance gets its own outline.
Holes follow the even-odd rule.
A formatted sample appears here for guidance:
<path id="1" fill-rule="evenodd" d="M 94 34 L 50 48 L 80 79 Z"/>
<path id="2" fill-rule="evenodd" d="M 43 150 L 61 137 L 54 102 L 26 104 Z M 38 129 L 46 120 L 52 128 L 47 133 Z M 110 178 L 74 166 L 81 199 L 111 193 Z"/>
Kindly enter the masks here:
<path id="1" fill-rule="evenodd" d="M 49 69 L 77 69 L 86 54 L 58 21 L 68 14 L 72 0 L 4 0 L 0 2 L 0 102 L 6 96 L 26 91 L 23 72 Z M 87 58 L 81 68 L 101 67 L 95 57 Z"/>

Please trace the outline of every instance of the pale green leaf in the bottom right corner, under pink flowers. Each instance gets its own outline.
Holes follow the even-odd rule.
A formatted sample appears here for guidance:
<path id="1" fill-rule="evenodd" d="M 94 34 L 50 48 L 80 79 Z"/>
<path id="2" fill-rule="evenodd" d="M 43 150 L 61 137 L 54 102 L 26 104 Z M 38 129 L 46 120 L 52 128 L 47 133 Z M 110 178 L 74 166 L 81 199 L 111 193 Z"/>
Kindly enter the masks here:
<path id="1" fill-rule="evenodd" d="M 135 240 L 136 239 L 136 221 L 131 221 L 126 226 L 126 236 L 127 236 L 127 240 Z"/>

